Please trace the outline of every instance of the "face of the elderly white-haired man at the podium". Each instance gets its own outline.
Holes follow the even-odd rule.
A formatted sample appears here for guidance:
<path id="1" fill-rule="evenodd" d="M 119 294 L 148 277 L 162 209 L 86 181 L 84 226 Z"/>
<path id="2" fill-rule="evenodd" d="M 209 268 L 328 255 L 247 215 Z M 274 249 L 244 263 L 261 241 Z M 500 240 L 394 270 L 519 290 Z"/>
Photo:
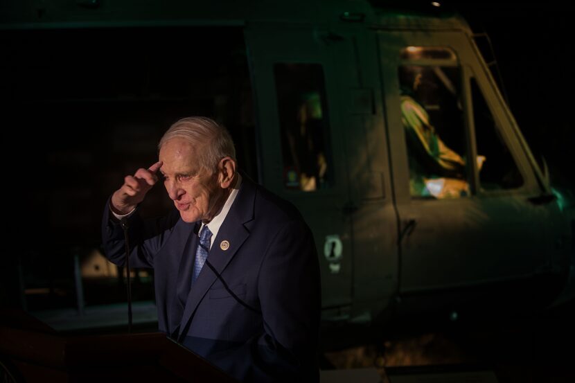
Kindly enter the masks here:
<path id="1" fill-rule="evenodd" d="M 197 158 L 194 146 L 179 138 L 164 143 L 159 153 L 163 184 L 184 222 L 210 221 L 222 202 L 218 173 L 200 168 Z"/>

